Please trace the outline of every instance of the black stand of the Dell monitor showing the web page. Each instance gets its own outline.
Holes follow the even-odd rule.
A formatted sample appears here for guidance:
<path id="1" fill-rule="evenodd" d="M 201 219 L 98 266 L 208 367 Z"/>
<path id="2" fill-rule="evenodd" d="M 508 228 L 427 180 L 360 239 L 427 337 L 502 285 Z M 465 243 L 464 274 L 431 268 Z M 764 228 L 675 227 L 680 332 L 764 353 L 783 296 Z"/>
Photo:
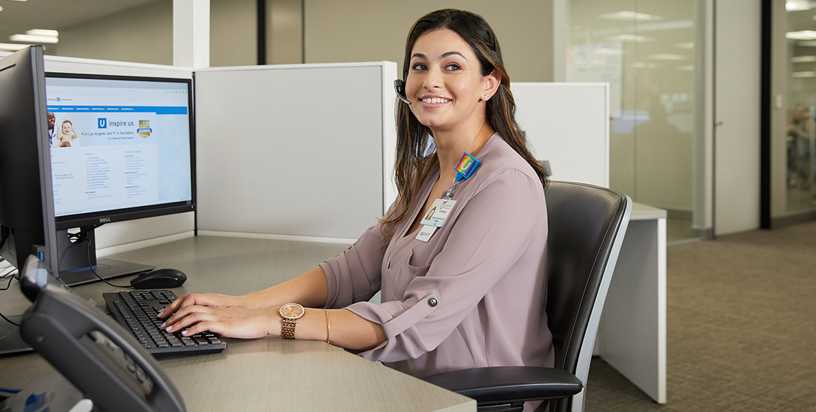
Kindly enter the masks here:
<path id="1" fill-rule="evenodd" d="M 108 280 L 114 277 L 150 272 L 156 268 L 122 260 L 96 259 L 94 227 L 81 228 L 81 233 L 79 237 L 73 237 L 68 233 L 68 229 L 56 232 L 60 279 L 68 286 L 99 281 L 100 277 Z"/>

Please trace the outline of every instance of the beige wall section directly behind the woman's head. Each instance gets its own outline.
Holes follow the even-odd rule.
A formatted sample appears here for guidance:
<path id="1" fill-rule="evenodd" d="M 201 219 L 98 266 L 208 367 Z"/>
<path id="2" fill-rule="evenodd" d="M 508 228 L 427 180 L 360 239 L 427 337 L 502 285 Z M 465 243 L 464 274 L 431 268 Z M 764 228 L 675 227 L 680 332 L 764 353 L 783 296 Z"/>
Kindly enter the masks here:
<path id="1" fill-rule="evenodd" d="M 552 81 L 552 0 L 306 0 L 306 63 L 390 60 L 401 73 L 411 25 L 446 7 L 487 20 L 512 81 Z"/>

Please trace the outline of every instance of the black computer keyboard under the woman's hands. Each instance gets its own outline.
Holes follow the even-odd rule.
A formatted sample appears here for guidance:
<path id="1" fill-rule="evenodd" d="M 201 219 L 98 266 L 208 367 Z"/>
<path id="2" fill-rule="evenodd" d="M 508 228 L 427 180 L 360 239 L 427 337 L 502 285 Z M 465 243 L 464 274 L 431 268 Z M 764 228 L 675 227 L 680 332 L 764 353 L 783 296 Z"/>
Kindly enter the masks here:
<path id="1" fill-rule="evenodd" d="M 182 336 L 181 331 L 168 333 L 158 327 L 164 323 L 158 311 L 176 299 L 170 290 L 135 290 L 102 294 L 113 317 L 131 330 L 153 357 L 221 352 L 227 343 L 218 334 L 202 332 Z"/>

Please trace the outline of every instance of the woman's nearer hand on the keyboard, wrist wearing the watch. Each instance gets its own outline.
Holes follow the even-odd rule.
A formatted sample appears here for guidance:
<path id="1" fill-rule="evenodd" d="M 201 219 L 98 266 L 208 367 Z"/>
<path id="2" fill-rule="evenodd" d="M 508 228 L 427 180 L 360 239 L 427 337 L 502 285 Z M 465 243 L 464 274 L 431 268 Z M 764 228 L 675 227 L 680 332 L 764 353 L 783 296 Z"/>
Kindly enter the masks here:
<path id="1" fill-rule="evenodd" d="M 173 333 L 188 328 L 181 333 L 184 336 L 209 330 L 226 338 L 254 339 L 270 333 L 271 319 L 279 319 L 273 308 L 217 308 L 189 304 L 168 318 L 162 329 Z"/>

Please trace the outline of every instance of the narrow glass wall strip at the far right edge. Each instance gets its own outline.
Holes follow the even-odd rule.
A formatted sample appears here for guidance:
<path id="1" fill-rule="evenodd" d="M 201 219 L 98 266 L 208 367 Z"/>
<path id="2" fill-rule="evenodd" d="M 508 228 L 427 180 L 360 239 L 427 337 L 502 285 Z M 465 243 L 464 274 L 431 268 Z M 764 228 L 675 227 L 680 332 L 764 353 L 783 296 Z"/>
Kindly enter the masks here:
<path id="1" fill-rule="evenodd" d="M 787 213 L 816 208 L 816 4 L 787 2 Z"/>

